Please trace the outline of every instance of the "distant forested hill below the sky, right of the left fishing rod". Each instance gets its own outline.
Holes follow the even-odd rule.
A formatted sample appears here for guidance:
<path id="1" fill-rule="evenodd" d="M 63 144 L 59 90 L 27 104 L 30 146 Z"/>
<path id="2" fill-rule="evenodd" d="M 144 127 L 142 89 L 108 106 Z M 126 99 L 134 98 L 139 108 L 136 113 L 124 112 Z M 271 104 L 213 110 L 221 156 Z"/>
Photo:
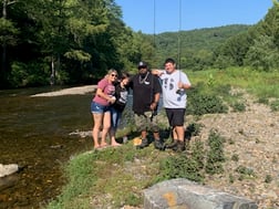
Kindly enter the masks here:
<path id="1" fill-rule="evenodd" d="M 178 60 L 180 53 L 182 67 L 187 66 L 189 58 L 195 60 L 206 60 L 207 55 L 224 44 L 226 40 L 241 32 L 246 32 L 250 25 L 226 25 L 218 28 L 199 29 L 192 31 L 166 32 L 155 35 L 155 55 L 156 64 L 162 65 L 162 62 L 167 56 L 173 56 Z"/>

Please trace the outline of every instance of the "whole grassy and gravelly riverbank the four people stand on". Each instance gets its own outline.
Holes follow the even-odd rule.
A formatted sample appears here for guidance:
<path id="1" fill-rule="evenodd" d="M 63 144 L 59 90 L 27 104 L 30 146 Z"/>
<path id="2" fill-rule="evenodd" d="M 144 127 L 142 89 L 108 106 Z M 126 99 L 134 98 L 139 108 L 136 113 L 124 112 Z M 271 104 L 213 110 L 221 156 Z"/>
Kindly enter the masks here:
<path id="1" fill-rule="evenodd" d="M 272 136 L 272 140 L 264 133 L 251 139 L 246 133 L 257 130 L 246 129 L 245 124 L 249 125 L 249 121 L 240 117 L 249 112 L 251 108 L 249 105 L 256 105 L 256 112 L 262 111 L 257 107 L 265 106 L 272 115 L 268 117 L 275 119 L 270 124 L 265 124 L 266 128 L 273 129 L 273 133 L 276 128 L 279 129 L 279 73 L 229 69 L 187 72 L 187 74 L 193 88 L 188 92 L 185 151 L 158 151 L 153 146 L 135 149 L 132 139 L 137 134 L 131 123 L 118 134 L 118 138 L 128 134 L 131 140 L 124 146 L 82 153 L 69 160 L 63 166 L 66 182 L 62 194 L 43 207 L 142 208 L 142 191 L 145 188 L 166 179 L 182 177 L 246 196 L 255 200 L 260 209 L 279 208 L 277 168 L 279 134 Z M 164 111 L 161 111 L 159 117 L 162 117 L 162 136 L 168 142 L 169 130 Z M 215 123 L 209 124 L 208 118 L 211 117 Z M 229 117 L 235 121 L 230 124 L 224 124 L 223 121 L 218 123 L 218 118 Z M 265 118 L 260 119 L 265 123 Z M 226 133 L 230 133 L 239 123 L 242 129 L 237 129 L 230 137 L 226 136 Z M 239 135 L 242 137 L 236 137 Z M 268 168 L 261 170 L 261 167 L 257 166 L 260 156 L 256 156 L 254 161 L 250 161 L 252 157 L 241 157 L 248 151 L 246 147 L 248 144 L 252 143 L 257 149 L 257 145 L 266 143 L 265 138 L 270 143 L 270 146 L 265 147 L 275 150 L 271 148 L 255 150 L 269 158 L 269 161 L 265 163 L 268 164 Z M 87 139 L 92 140 L 90 137 Z M 262 154 L 264 151 L 267 154 Z M 270 195 L 271 190 L 273 194 Z"/>

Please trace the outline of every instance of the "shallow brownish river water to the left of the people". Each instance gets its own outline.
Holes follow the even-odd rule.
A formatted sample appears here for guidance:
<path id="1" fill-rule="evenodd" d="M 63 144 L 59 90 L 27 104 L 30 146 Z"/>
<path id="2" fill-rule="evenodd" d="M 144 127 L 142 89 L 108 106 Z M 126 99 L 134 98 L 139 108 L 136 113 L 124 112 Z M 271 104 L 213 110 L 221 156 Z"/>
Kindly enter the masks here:
<path id="1" fill-rule="evenodd" d="M 18 174 L 0 179 L 1 209 L 45 205 L 61 192 L 64 163 L 93 148 L 90 136 L 70 135 L 92 128 L 92 94 L 30 96 L 46 91 L 0 91 L 0 164 L 22 166 Z"/>

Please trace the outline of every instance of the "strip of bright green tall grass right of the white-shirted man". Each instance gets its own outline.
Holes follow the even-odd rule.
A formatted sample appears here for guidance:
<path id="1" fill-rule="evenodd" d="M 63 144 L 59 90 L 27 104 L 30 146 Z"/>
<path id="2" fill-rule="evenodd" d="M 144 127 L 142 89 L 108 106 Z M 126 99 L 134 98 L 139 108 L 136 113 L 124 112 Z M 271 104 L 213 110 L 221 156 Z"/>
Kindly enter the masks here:
<path id="1" fill-rule="evenodd" d="M 259 98 L 279 98 L 279 72 L 262 72 L 251 69 L 234 67 L 186 72 L 192 84 L 206 83 L 208 86 L 230 85 L 245 88 Z"/>

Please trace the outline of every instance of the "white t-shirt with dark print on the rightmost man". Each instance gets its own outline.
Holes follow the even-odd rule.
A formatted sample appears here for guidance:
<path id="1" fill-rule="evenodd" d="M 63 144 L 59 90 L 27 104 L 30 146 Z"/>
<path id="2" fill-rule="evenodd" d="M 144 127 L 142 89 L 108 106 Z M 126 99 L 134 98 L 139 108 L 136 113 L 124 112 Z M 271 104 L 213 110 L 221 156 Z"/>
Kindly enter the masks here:
<path id="1" fill-rule="evenodd" d="M 180 81 L 183 84 L 190 85 L 190 82 L 187 75 L 176 70 L 173 73 L 168 74 L 165 70 L 159 71 L 162 74 L 159 76 L 162 81 L 162 90 L 163 90 L 163 106 L 165 108 L 186 108 L 187 104 L 187 94 L 184 88 L 177 93 L 178 82 Z"/>

